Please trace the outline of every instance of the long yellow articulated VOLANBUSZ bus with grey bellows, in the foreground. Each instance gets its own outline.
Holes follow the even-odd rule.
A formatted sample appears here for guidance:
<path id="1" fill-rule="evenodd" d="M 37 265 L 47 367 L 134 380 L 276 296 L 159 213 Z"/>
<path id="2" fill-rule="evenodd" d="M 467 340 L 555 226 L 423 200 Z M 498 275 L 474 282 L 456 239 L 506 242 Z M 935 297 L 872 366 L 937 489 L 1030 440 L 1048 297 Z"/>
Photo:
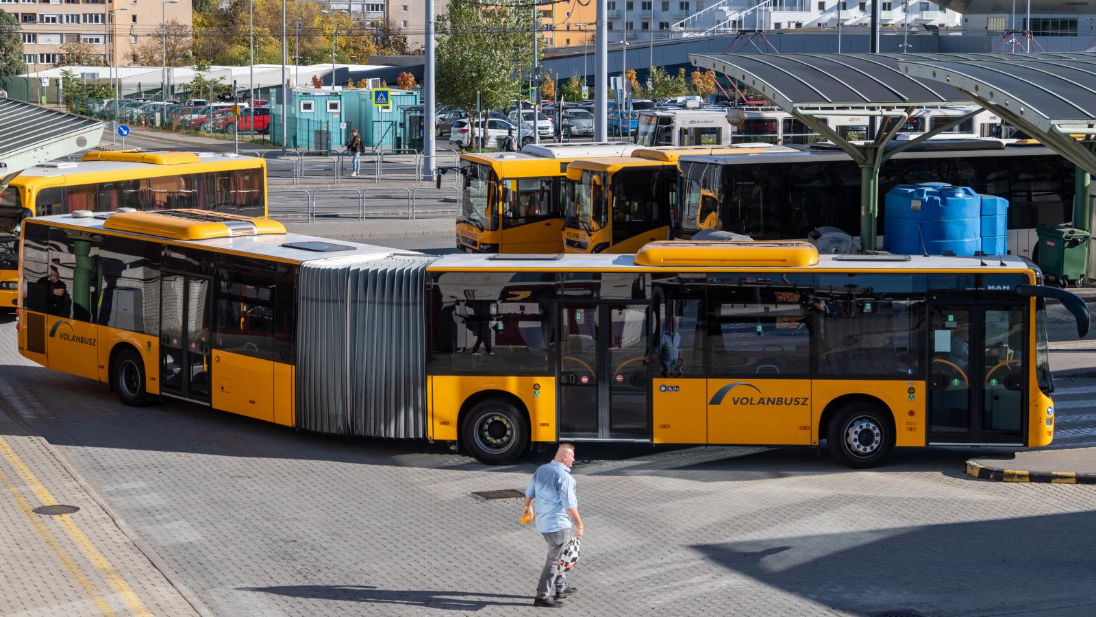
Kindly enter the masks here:
<path id="1" fill-rule="evenodd" d="M 1019 257 L 819 256 L 653 243 L 635 256 L 432 257 L 194 211 L 28 220 L 19 347 L 127 404 L 180 397 L 302 430 L 894 447 L 1051 442 L 1044 299 Z"/>

